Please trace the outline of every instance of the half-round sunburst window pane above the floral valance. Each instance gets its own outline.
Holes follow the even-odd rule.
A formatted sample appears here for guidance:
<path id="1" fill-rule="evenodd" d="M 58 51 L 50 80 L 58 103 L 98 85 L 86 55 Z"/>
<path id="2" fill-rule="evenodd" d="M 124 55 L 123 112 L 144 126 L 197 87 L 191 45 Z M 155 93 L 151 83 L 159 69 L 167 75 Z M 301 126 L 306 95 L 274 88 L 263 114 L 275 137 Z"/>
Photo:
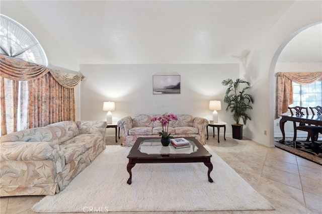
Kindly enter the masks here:
<path id="1" fill-rule="evenodd" d="M 34 35 L 24 26 L 0 14 L 0 53 L 48 66 L 47 56 Z"/>

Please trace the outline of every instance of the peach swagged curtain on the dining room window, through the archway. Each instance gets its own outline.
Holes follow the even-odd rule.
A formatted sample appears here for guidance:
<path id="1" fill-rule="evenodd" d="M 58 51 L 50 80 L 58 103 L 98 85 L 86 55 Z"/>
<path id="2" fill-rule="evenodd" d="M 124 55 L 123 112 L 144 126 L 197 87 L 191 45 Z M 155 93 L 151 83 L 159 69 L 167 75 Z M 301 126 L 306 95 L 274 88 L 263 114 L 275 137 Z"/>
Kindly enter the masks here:
<path id="1" fill-rule="evenodd" d="M 322 72 L 278 72 L 276 76 L 275 119 L 286 113 L 293 103 L 293 81 L 298 84 L 322 81 Z"/>

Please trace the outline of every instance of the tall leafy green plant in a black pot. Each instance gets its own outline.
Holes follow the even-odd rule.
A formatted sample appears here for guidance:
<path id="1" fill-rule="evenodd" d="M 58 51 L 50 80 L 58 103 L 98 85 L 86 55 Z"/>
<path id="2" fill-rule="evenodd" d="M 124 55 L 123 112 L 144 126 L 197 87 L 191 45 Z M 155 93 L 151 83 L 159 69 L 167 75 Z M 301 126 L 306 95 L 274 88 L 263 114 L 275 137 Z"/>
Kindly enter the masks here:
<path id="1" fill-rule="evenodd" d="M 240 119 L 246 124 L 251 117 L 247 114 L 247 110 L 253 109 L 253 96 L 246 93 L 247 89 L 251 88 L 248 81 L 239 78 L 236 81 L 232 79 L 225 79 L 221 82 L 223 86 L 228 86 L 223 101 L 227 103 L 226 111 L 230 110 L 232 119 L 236 122 L 232 124 L 232 138 L 243 139 L 243 124 L 239 124 Z M 244 87 L 243 87 L 244 85 Z"/>

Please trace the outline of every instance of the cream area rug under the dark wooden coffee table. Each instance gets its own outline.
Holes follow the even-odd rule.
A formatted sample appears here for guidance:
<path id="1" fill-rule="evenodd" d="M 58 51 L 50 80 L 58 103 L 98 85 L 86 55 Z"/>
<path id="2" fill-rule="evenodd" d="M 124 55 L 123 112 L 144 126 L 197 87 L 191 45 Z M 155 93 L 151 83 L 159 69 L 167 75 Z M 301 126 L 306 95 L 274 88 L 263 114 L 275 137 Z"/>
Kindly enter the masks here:
<path id="1" fill-rule="evenodd" d="M 269 210 L 274 207 L 208 146 L 213 183 L 203 163 L 136 164 L 126 183 L 130 147 L 107 146 L 60 193 L 36 212 Z"/>

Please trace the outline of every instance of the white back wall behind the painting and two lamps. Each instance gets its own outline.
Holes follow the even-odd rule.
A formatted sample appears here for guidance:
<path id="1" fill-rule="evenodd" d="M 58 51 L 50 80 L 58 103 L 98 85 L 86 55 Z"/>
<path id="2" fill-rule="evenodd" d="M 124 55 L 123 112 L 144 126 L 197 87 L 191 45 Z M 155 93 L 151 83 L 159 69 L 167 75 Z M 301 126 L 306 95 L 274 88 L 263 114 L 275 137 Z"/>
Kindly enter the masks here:
<path id="1" fill-rule="evenodd" d="M 81 119 L 106 120 L 104 101 L 114 101 L 113 122 L 134 114 L 190 114 L 212 118 L 210 100 L 221 100 L 219 121 L 227 122 L 227 136 L 233 123 L 223 96 L 225 78 L 239 77 L 239 64 L 128 64 L 81 65 L 86 81 L 81 83 Z M 156 73 L 181 75 L 180 94 L 152 94 L 152 76 Z M 113 130 L 112 130 L 113 131 Z M 223 131 L 223 130 L 221 130 Z M 212 133 L 209 129 L 209 133 Z"/>

